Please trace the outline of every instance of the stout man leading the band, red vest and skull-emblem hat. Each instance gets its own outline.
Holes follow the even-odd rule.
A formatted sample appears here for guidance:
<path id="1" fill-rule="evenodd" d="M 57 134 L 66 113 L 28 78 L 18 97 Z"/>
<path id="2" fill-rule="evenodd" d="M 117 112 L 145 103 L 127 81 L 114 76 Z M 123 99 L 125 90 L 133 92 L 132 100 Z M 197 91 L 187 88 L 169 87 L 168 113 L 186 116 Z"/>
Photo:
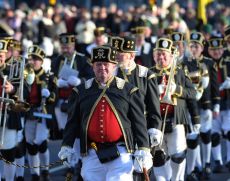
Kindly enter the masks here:
<path id="1" fill-rule="evenodd" d="M 71 161 L 80 138 L 84 180 L 132 180 L 134 169 L 152 166 L 144 103 L 139 89 L 115 77 L 116 50 L 99 46 L 92 51 L 95 78 L 74 88 L 59 157 Z M 112 131 L 111 131 L 112 128 Z"/>

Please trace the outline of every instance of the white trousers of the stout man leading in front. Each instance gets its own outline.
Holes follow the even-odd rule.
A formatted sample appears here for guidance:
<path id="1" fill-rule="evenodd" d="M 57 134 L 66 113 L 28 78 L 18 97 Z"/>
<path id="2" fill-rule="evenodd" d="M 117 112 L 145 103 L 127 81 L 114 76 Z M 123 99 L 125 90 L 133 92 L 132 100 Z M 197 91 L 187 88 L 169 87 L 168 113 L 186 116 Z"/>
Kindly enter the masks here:
<path id="1" fill-rule="evenodd" d="M 95 150 L 89 149 L 88 155 L 82 157 L 81 175 L 84 181 L 132 181 L 133 160 L 124 146 L 118 146 L 120 156 L 113 161 L 102 164 Z"/>

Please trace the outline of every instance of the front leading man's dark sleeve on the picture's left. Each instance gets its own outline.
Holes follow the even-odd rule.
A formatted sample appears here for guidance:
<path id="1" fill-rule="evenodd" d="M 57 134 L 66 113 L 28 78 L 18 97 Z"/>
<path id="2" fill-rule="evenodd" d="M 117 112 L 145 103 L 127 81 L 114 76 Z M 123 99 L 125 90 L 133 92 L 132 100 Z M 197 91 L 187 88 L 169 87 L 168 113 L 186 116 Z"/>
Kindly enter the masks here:
<path id="1" fill-rule="evenodd" d="M 76 137 L 80 133 L 80 117 L 79 117 L 79 95 L 76 88 L 73 89 L 68 101 L 68 118 L 63 132 L 63 146 L 72 147 Z"/>

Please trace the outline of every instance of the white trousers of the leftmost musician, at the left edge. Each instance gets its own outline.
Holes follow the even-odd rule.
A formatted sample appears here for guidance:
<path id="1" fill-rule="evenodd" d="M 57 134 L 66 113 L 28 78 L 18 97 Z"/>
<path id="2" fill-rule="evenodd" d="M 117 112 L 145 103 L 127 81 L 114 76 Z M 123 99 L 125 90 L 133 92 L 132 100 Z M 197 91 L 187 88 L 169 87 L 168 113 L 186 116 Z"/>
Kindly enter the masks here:
<path id="1" fill-rule="evenodd" d="M 0 144 L 1 149 L 11 149 L 17 144 L 17 130 L 5 128 L 4 134 L 2 135 L 2 127 L 0 128 Z"/>

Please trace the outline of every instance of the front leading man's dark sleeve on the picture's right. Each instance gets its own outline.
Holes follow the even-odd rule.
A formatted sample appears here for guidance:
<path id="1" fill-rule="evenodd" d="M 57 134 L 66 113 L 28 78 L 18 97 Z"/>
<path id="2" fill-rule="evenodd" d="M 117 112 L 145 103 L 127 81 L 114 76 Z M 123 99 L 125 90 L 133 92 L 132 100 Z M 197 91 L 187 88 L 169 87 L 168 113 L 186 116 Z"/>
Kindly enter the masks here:
<path id="1" fill-rule="evenodd" d="M 131 92 L 128 117 L 131 120 L 133 136 L 138 149 L 149 149 L 147 121 L 144 116 L 144 101 L 138 90 Z"/>

